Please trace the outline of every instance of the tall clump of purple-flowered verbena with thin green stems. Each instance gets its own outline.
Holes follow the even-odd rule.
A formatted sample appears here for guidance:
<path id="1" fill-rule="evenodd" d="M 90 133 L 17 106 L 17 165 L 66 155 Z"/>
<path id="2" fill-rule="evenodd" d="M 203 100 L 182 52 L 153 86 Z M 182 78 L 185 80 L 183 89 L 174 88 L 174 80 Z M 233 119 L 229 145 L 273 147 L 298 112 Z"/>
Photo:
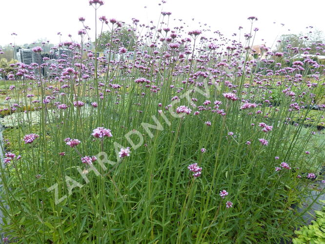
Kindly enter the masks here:
<path id="1" fill-rule="evenodd" d="M 80 18 L 80 43 L 54 48 L 65 48 L 61 59 L 16 63 L 5 74 L 1 112 L 13 128 L 1 166 L 4 241 L 291 237 L 300 220 L 291 206 L 324 163 L 307 148 L 316 127 L 304 125 L 316 104 L 314 122 L 323 123 L 324 65 L 291 59 L 308 49 L 290 45 L 287 53 L 261 47 L 265 55 L 252 59 L 256 17 L 244 40 L 231 41 L 172 28 L 162 12 L 158 26 L 133 19 L 122 45 L 125 26 L 97 17 L 101 0 L 89 3 L 96 30 L 111 30 L 107 55 L 97 52 L 102 31 L 86 42 Z M 42 48 L 33 51 L 41 60 Z"/>

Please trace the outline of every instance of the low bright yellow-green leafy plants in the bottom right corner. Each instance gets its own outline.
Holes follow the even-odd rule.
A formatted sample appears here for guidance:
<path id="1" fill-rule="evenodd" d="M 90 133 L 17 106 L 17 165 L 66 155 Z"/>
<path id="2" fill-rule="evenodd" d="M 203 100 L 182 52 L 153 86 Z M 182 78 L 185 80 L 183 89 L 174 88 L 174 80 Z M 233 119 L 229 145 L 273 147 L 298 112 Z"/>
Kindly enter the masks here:
<path id="1" fill-rule="evenodd" d="M 322 201 L 325 203 L 325 201 Z M 297 238 L 292 240 L 293 244 L 324 244 L 325 243 L 325 206 L 321 211 L 315 211 L 316 220 L 311 224 L 296 230 Z"/>

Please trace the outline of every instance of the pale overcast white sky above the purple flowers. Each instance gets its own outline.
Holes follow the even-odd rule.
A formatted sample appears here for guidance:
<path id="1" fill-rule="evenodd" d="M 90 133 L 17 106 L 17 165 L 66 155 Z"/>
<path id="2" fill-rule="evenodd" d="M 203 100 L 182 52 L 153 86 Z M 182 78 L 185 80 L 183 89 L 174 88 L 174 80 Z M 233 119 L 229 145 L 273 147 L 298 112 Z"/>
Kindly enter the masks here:
<path id="1" fill-rule="evenodd" d="M 325 33 L 325 0 L 167 0 L 162 6 L 158 5 L 160 0 L 104 1 L 98 16 L 105 15 L 108 19 L 126 23 L 130 23 L 131 18 L 145 24 L 153 20 L 157 24 L 163 7 L 163 11 L 172 12 L 172 20 L 185 20 L 190 25 L 188 29 L 197 29 L 201 21 L 210 25 L 212 31 L 220 30 L 229 38 L 232 33 L 238 33 L 239 26 L 248 32 L 250 22 L 247 17 L 256 16 L 258 21 L 254 27 L 260 30 L 254 43 L 266 41 L 267 46 L 271 46 L 281 34 L 309 31 L 305 27 L 310 25 L 314 26 L 311 30 Z M 41 38 L 56 44 L 60 42 L 58 32 L 62 33 L 61 41 L 69 40 L 68 34 L 78 40 L 77 32 L 82 28 L 78 19 L 81 16 L 93 30 L 94 9 L 88 0 L 0 0 L 0 45 L 14 41 L 30 43 Z M 179 25 L 180 22 L 176 23 Z M 281 23 L 285 24 L 284 27 Z M 175 25 L 172 23 L 170 27 Z M 18 34 L 15 40 L 11 36 L 13 32 Z"/>

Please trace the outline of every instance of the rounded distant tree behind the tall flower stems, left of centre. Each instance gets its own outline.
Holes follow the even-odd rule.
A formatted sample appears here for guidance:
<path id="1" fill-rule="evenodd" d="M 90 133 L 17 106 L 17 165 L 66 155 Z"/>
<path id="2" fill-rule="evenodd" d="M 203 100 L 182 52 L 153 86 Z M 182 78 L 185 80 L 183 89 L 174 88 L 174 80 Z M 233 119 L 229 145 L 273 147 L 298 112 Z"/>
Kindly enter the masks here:
<path id="1" fill-rule="evenodd" d="M 135 46 L 135 35 L 133 31 L 129 31 L 127 27 L 117 28 L 113 31 L 104 31 L 102 37 L 98 37 L 99 42 L 98 51 L 102 52 L 105 49 L 109 49 L 109 43 L 112 37 L 112 49 L 117 49 L 119 47 L 125 47 L 128 51 L 134 51 Z M 108 44 L 108 45 L 106 45 Z"/>

